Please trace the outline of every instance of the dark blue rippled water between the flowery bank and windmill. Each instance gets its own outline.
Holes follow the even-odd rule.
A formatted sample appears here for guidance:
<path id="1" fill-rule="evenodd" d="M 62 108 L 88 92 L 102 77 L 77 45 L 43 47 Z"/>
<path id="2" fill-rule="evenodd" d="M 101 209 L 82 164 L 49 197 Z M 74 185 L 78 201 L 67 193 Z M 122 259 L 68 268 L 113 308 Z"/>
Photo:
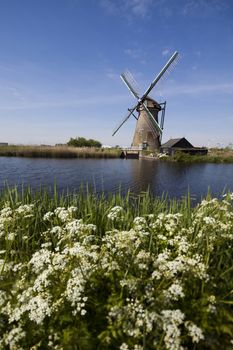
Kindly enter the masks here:
<path id="1" fill-rule="evenodd" d="M 138 194 L 148 187 L 156 196 L 163 193 L 181 198 L 188 191 L 194 200 L 208 192 L 220 196 L 233 191 L 233 164 L 181 164 L 137 159 L 43 159 L 0 157 L 0 189 L 30 185 L 77 191 L 88 183 L 97 192 L 122 193 L 129 189 Z"/>

